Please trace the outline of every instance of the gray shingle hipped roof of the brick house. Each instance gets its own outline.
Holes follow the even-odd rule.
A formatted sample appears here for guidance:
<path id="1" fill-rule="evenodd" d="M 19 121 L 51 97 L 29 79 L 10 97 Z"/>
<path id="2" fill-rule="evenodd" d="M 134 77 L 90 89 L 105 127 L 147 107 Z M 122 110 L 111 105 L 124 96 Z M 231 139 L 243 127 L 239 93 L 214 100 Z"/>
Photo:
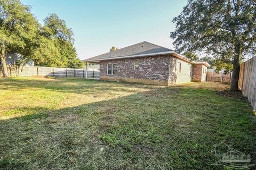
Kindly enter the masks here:
<path id="1" fill-rule="evenodd" d="M 172 49 L 161 47 L 155 44 L 148 43 L 147 41 L 143 41 L 138 44 L 134 44 L 128 47 L 117 49 L 114 52 L 108 52 L 105 54 L 101 54 L 95 57 L 87 58 L 86 61 L 99 61 L 104 60 L 106 58 L 116 58 L 123 56 L 134 56 L 134 55 L 142 55 L 142 54 L 151 54 L 151 53 L 161 53 L 161 52 L 173 52 Z"/>

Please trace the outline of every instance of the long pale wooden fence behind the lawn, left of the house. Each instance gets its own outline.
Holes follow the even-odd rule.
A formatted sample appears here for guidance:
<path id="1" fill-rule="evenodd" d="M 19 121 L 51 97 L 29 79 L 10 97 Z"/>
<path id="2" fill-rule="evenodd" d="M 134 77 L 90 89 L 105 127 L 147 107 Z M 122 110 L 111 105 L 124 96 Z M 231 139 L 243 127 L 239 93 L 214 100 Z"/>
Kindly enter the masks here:
<path id="1" fill-rule="evenodd" d="M 14 70 L 9 70 L 9 75 L 15 76 Z M 23 66 L 20 77 L 57 77 L 57 78 L 86 78 L 85 69 L 69 69 L 58 67 Z M 99 78 L 99 70 L 87 70 L 87 78 Z"/>

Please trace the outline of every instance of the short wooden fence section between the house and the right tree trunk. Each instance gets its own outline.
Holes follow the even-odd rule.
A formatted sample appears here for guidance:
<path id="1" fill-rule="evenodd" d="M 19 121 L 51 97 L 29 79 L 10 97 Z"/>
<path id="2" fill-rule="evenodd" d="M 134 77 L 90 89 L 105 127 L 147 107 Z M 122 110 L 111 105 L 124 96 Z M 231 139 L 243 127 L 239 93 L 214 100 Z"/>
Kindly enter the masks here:
<path id="1" fill-rule="evenodd" d="M 215 72 L 207 72 L 207 81 L 221 82 L 221 83 L 230 83 L 231 82 L 232 73 L 215 73 Z"/>

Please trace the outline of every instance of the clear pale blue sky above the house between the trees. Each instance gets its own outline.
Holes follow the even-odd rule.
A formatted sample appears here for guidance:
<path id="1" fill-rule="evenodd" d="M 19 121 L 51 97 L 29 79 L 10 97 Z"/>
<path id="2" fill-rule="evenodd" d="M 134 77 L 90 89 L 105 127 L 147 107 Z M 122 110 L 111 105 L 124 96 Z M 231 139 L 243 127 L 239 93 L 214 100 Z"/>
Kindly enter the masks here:
<path id="1" fill-rule="evenodd" d="M 81 60 L 142 41 L 174 49 L 172 19 L 187 0 L 21 0 L 43 24 L 50 13 L 66 21 Z"/>

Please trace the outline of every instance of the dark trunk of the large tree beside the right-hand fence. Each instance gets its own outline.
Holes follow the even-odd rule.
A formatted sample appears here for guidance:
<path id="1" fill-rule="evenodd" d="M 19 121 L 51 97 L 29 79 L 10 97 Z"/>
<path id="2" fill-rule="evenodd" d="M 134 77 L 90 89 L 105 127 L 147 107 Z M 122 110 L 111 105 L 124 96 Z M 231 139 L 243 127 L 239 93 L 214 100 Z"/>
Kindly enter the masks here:
<path id="1" fill-rule="evenodd" d="M 239 73 L 240 73 L 240 58 L 241 58 L 241 48 L 235 47 L 235 57 L 233 61 L 233 73 L 230 84 L 230 92 L 238 91 L 238 81 L 239 81 Z"/>

